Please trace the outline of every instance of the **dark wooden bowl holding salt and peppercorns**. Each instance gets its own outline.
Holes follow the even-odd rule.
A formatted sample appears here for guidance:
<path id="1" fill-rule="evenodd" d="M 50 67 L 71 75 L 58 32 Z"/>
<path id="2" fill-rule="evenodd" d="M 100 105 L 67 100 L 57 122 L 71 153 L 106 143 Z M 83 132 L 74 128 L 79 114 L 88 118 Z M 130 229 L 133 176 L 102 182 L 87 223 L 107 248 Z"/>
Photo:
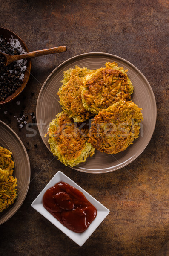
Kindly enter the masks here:
<path id="1" fill-rule="evenodd" d="M 11 38 L 11 35 L 13 35 L 14 39 L 18 39 L 20 41 L 20 44 L 22 45 L 23 49 L 26 52 L 29 52 L 29 50 L 28 50 L 26 44 L 23 42 L 23 40 L 18 35 L 16 35 L 14 32 L 10 31 L 9 29 L 0 27 L 0 35 L 3 35 L 3 38 L 6 38 L 7 40 L 9 40 L 9 38 Z M 30 72 L 31 72 L 31 59 L 28 58 L 27 61 L 28 61 L 27 69 L 25 70 L 25 73 L 24 73 L 25 76 L 23 79 L 23 83 L 21 84 L 21 87 L 19 87 L 13 94 L 8 96 L 4 101 L 0 101 L 0 105 L 5 104 L 5 103 L 10 102 L 11 100 L 15 99 L 26 87 L 26 84 L 29 80 L 29 76 L 30 76 Z"/>

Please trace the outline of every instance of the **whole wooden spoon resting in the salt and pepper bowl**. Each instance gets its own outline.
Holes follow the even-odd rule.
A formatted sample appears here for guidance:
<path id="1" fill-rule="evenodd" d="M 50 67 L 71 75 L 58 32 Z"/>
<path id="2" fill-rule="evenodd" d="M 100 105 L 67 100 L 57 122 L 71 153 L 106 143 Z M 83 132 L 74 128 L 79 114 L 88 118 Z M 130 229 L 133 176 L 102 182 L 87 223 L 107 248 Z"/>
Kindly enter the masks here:
<path id="1" fill-rule="evenodd" d="M 2 54 L 5 57 L 5 63 L 6 63 L 6 66 L 8 66 L 10 63 L 17 60 L 21 60 L 25 58 L 34 58 L 34 57 L 39 57 L 42 55 L 58 53 L 58 52 L 66 52 L 66 50 L 67 50 L 66 46 L 57 46 L 50 49 L 28 52 L 20 55 L 10 55 L 2 52 L 0 52 L 0 54 Z"/>

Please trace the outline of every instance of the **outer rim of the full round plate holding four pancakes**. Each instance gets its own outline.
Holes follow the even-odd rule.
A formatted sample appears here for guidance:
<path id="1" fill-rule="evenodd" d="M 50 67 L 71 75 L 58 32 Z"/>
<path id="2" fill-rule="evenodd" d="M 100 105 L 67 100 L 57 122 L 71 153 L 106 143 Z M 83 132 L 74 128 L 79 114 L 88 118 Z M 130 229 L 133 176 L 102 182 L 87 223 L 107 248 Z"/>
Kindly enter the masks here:
<path id="1" fill-rule="evenodd" d="M 92 171 L 92 169 L 83 170 L 83 169 L 80 169 L 80 168 L 78 169 L 78 167 L 77 167 L 77 168 L 74 168 L 75 166 L 74 166 L 74 167 L 68 166 L 69 168 L 74 169 L 74 170 L 77 170 L 77 171 L 80 171 L 80 172 L 101 174 L 101 173 L 108 173 L 108 172 L 114 172 L 114 171 L 116 171 L 116 170 L 119 170 L 119 169 L 121 169 L 121 168 L 123 168 L 123 167 L 129 165 L 130 163 L 132 163 L 137 157 L 140 156 L 140 154 L 143 153 L 143 151 L 145 150 L 145 148 L 146 148 L 147 145 L 149 144 L 150 140 L 152 139 L 152 135 L 153 135 L 154 130 L 155 130 L 155 125 L 156 125 L 156 121 L 157 121 L 157 104 L 156 104 L 154 92 L 153 92 L 153 90 L 152 90 L 151 85 L 149 84 L 149 81 L 146 79 L 146 77 L 143 75 L 143 73 L 142 73 L 137 67 L 135 67 L 134 64 L 132 64 L 131 62 L 127 61 L 126 59 L 124 59 L 124 58 L 122 58 L 122 57 L 120 57 L 120 56 L 113 55 L 113 54 L 111 54 L 111 53 L 106 53 L 106 52 L 86 52 L 86 53 L 83 53 L 83 54 L 79 54 L 79 55 L 73 56 L 73 57 L 67 59 L 66 61 L 63 61 L 60 65 L 58 65 L 58 66 L 49 74 L 49 76 L 48 76 L 48 77 L 46 78 L 46 80 L 43 82 L 43 85 L 42 85 L 42 87 L 41 87 L 41 89 L 40 89 L 40 92 L 39 92 L 39 95 L 38 95 L 38 98 L 37 98 L 37 106 L 36 106 L 36 117 L 37 117 L 37 121 L 39 120 L 39 116 L 38 116 L 38 105 L 39 105 L 39 102 L 40 102 L 40 95 L 42 94 L 42 91 L 43 91 L 43 89 L 44 89 L 45 84 L 47 84 L 47 81 L 53 76 L 53 74 L 54 74 L 57 70 L 60 69 L 60 67 L 62 67 L 62 66 L 64 66 L 65 64 L 69 63 L 70 61 L 73 61 L 74 59 L 77 59 L 77 58 L 80 58 L 80 57 L 83 57 L 83 56 L 90 56 L 90 55 L 96 55 L 96 56 L 97 56 L 97 55 L 104 55 L 104 56 L 108 56 L 108 57 L 111 57 L 111 58 L 117 58 L 117 59 L 120 59 L 120 60 L 123 61 L 123 62 L 126 62 L 128 65 L 132 66 L 132 68 L 135 69 L 135 70 L 137 71 L 137 73 L 140 74 L 140 75 L 143 77 L 143 79 L 146 81 L 146 84 L 147 84 L 147 86 L 148 86 L 148 88 L 149 88 L 149 90 L 150 90 L 150 92 L 151 92 L 151 96 L 152 96 L 152 98 L 153 98 L 153 99 L 152 99 L 152 105 L 155 106 L 155 109 L 154 109 L 155 121 L 154 121 L 154 127 L 151 129 L 151 131 L 152 131 L 152 132 L 151 132 L 151 136 L 150 136 L 149 140 L 147 141 L 146 145 L 144 146 L 144 148 L 142 149 L 142 151 L 140 151 L 140 153 L 139 153 L 138 155 L 136 154 L 136 156 L 134 156 L 134 157 L 132 158 L 132 160 L 129 160 L 127 163 L 121 163 L 120 166 L 117 166 L 117 167 L 116 167 L 115 169 L 113 169 L 113 170 L 112 170 L 112 169 L 109 170 L 109 169 L 112 168 L 112 167 L 106 168 L 104 172 Z M 44 138 L 43 138 L 43 136 L 41 136 L 40 125 L 37 124 L 37 127 L 38 127 L 38 131 L 39 131 L 40 137 L 41 137 L 43 143 L 45 144 Z M 45 144 L 45 146 L 46 146 L 46 144 Z M 50 151 L 50 148 L 49 148 L 49 147 L 46 146 L 46 148 L 48 148 L 48 150 Z M 50 152 L 51 152 L 51 151 L 50 151 Z M 52 152 L 51 152 L 51 153 L 52 153 Z M 56 159 L 57 159 L 57 157 L 56 157 Z M 89 170 L 90 170 L 90 171 L 89 171 Z M 99 170 L 99 169 L 97 169 L 97 170 Z"/>

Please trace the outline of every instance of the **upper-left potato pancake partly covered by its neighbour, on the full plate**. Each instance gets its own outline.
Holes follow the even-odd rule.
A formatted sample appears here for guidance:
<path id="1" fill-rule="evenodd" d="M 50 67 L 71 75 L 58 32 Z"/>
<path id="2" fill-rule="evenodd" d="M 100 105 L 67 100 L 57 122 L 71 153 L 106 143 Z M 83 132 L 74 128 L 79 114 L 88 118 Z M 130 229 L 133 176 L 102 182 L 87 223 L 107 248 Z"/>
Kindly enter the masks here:
<path id="1" fill-rule="evenodd" d="M 62 87 L 58 91 L 60 105 L 63 110 L 69 114 L 69 117 L 74 119 L 74 122 L 84 122 L 89 119 L 92 114 L 83 107 L 81 97 L 81 86 L 83 78 L 90 73 L 86 67 L 80 68 L 76 66 L 64 72 Z"/>

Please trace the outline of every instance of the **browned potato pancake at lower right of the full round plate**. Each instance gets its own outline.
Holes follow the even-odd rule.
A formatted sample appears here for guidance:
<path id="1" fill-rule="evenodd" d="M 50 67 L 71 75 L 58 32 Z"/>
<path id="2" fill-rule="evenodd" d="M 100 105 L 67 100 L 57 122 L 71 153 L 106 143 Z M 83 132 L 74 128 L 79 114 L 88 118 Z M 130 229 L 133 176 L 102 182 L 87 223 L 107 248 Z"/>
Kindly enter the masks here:
<path id="1" fill-rule="evenodd" d="M 119 101 L 100 111 L 92 119 L 89 143 L 108 154 L 124 151 L 139 136 L 141 110 L 132 101 Z"/>

